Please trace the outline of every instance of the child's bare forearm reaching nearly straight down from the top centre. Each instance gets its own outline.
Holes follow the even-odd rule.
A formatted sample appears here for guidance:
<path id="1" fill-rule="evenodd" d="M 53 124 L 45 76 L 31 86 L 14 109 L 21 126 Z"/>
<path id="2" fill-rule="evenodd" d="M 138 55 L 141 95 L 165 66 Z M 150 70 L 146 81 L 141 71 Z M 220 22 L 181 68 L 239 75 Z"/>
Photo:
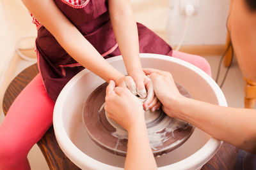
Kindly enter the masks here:
<path id="1" fill-rule="evenodd" d="M 109 15 L 128 74 L 142 71 L 138 29 L 131 4 L 126 0 L 109 0 Z"/>

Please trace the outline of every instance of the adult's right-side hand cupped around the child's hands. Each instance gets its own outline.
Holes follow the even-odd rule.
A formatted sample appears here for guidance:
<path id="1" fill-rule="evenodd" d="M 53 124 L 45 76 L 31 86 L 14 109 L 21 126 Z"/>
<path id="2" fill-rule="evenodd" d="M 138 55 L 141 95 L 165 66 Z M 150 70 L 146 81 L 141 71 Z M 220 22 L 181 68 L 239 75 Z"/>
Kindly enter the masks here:
<path id="1" fill-rule="evenodd" d="M 175 102 L 182 99 L 175 82 L 173 81 L 172 74 L 159 69 L 143 69 L 144 73 L 150 76 L 152 80 L 154 92 L 163 104 L 164 112 L 173 117 L 173 108 Z"/>

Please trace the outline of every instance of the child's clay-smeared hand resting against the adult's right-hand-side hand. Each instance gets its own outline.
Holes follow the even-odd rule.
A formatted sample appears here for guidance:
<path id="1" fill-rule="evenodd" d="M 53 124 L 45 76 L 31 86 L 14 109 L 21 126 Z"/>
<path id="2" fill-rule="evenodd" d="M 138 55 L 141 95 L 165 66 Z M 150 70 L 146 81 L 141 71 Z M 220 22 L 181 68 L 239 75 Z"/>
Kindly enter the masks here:
<path id="1" fill-rule="evenodd" d="M 145 110 L 155 111 L 160 108 L 161 103 L 154 94 L 153 84 L 150 78 L 142 71 L 132 71 L 129 73 L 136 83 L 136 92 L 141 99 L 145 99 L 143 107 Z"/>

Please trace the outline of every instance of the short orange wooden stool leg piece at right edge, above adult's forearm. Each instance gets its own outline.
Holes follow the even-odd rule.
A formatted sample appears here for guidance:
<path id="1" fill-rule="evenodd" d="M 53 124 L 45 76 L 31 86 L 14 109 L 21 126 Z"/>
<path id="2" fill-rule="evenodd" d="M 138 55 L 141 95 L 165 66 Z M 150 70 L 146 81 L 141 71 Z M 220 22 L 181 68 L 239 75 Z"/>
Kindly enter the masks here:
<path id="1" fill-rule="evenodd" d="M 244 86 L 244 108 L 253 108 L 256 101 L 256 86 L 250 85 L 247 82 Z"/>

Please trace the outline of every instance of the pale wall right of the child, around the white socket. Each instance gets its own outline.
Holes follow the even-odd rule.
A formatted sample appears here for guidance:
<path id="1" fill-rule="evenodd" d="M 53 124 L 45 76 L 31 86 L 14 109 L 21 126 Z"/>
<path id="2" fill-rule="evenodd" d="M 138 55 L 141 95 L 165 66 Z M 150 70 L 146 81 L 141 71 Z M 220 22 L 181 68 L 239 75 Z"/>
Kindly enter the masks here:
<path id="1" fill-rule="evenodd" d="M 147 25 L 154 31 L 165 31 L 167 25 L 168 41 L 171 45 L 177 45 L 185 25 L 185 17 L 180 15 L 179 1 L 131 0 L 131 3 L 138 22 Z M 184 45 L 225 44 L 229 1 L 200 0 L 198 15 L 189 19 Z"/>

